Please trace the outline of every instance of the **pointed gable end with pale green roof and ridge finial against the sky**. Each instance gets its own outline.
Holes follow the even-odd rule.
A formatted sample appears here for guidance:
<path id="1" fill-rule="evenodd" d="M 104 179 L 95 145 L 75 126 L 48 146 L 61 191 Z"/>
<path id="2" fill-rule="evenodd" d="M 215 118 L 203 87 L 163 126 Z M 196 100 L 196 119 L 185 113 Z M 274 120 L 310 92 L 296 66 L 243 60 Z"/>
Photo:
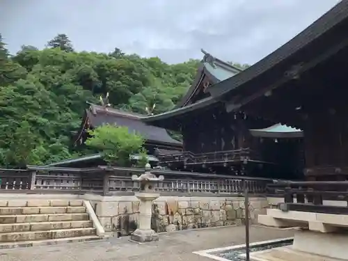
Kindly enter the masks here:
<path id="1" fill-rule="evenodd" d="M 182 97 L 182 100 L 178 102 L 175 108 L 180 108 L 188 104 L 191 98 L 196 94 L 200 82 L 205 76 L 212 81 L 212 84 L 217 84 L 220 81 L 224 81 L 242 71 L 241 69 L 212 56 L 203 49 L 201 49 L 201 51 L 205 55 L 198 67 L 196 78 L 193 80 L 191 87 L 187 90 L 187 93 Z"/>

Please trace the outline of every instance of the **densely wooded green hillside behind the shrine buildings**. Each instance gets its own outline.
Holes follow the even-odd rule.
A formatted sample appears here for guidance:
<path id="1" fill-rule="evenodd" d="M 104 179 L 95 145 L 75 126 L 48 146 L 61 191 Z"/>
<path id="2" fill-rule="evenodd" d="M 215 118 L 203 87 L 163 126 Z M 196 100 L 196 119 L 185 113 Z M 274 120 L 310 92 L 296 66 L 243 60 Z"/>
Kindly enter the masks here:
<path id="1" fill-rule="evenodd" d="M 138 113 L 173 108 L 193 81 L 198 60 L 169 65 L 159 58 L 75 52 L 67 35 L 47 48 L 11 55 L 0 35 L 0 166 L 49 164 L 77 157 L 70 148 L 86 101 L 109 92 L 112 106 Z"/>

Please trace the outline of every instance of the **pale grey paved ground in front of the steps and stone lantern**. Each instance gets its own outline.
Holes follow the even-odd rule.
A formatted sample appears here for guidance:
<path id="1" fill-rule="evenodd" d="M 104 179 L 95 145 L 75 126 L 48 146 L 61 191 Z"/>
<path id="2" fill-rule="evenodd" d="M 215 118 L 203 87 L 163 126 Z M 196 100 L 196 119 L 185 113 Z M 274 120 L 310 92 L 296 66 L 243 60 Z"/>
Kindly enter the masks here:
<path id="1" fill-rule="evenodd" d="M 244 226 L 160 234 L 159 242 L 136 244 L 128 237 L 107 241 L 0 250 L 0 261 L 212 261 L 193 254 L 244 243 Z M 291 230 L 251 227 L 251 242 L 292 237 Z"/>

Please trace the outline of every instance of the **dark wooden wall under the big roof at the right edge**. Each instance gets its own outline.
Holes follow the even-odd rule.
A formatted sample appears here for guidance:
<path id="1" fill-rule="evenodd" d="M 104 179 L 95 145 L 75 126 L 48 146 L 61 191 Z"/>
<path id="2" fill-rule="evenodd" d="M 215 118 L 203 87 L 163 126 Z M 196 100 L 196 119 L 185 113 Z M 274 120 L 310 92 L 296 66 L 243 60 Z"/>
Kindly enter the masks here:
<path id="1" fill-rule="evenodd" d="M 347 180 L 348 104 L 347 94 L 309 104 L 304 129 L 306 170 L 310 180 Z"/>

